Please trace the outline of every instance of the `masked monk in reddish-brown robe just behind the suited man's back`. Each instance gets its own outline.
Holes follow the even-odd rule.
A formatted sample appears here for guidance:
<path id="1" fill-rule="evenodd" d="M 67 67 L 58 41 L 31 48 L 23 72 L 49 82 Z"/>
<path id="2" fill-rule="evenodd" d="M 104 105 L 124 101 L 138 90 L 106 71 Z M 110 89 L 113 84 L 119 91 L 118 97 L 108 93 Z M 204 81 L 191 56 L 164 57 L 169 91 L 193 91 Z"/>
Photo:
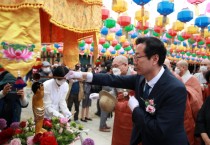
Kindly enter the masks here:
<path id="1" fill-rule="evenodd" d="M 182 78 L 187 89 L 187 102 L 184 117 L 184 126 L 190 145 L 200 145 L 198 138 L 194 136 L 197 113 L 203 104 L 201 86 L 198 79 L 191 75 L 188 63 L 185 60 L 177 62 L 175 72 Z"/>

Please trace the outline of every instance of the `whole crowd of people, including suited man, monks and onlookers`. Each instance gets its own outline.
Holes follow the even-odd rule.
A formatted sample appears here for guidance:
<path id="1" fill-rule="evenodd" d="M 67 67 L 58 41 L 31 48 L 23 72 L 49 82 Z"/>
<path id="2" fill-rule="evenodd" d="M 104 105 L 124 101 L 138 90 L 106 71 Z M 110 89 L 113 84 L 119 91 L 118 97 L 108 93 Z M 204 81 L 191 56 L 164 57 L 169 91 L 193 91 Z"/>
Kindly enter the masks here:
<path id="1" fill-rule="evenodd" d="M 113 129 L 112 145 L 210 145 L 210 61 L 202 61 L 195 74 L 185 60 L 172 67 L 157 38 L 136 40 L 133 65 L 122 55 L 100 66 L 78 63 L 73 70 L 43 61 L 32 74 L 32 81 L 44 86 L 45 118 L 88 123 L 91 94 L 105 90 L 114 96 L 114 113 L 100 108 L 99 100 L 95 110 L 99 131 Z M 22 89 L 13 90 L 15 80 L 0 72 L 0 118 L 8 126 L 20 121 L 29 103 Z M 112 114 L 113 128 L 106 123 Z"/>

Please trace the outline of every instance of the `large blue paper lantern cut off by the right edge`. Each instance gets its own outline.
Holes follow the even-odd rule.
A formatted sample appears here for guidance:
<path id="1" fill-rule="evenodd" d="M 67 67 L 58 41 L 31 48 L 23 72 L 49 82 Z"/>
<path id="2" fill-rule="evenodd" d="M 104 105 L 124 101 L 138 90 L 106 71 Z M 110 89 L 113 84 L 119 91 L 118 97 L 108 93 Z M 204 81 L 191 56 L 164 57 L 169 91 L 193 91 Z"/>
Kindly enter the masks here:
<path id="1" fill-rule="evenodd" d="M 210 24 L 210 17 L 200 15 L 195 19 L 195 25 L 200 28 L 205 28 Z"/>

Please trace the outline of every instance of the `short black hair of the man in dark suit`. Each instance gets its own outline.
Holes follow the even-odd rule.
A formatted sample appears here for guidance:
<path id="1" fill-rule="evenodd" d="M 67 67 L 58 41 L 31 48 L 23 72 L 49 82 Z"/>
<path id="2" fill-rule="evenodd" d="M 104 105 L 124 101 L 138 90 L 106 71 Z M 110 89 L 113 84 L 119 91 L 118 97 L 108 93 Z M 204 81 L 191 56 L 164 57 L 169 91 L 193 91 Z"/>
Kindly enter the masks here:
<path id="1" fill-rule="evenodd" d="M 146 45 L 144 52 L 148 59 L 153 55 L 158 55 L 158 65 L 162 66 L 166 58 L 166 48 L 163 42 L 155 37 L 139 37 L 136 39 L 136 45 L 144 43 Z"/>

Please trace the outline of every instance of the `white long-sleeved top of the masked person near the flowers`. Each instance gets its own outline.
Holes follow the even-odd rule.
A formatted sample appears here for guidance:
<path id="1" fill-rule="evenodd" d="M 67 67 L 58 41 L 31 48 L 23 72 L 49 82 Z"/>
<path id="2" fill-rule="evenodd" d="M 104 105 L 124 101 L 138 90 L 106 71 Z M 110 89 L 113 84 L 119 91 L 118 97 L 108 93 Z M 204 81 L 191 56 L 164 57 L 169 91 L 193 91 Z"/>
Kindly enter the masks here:
<path id="1" fill-rule="evenodd" d="M 52 118 L 53 116 L 63 118 L 64 116 L 71 115 L 65 100 L 68 90 L 69 87 L 67 82 L 59 87 L 54 79 L 44 82 L 44 106 L 46 118 Z"/>

